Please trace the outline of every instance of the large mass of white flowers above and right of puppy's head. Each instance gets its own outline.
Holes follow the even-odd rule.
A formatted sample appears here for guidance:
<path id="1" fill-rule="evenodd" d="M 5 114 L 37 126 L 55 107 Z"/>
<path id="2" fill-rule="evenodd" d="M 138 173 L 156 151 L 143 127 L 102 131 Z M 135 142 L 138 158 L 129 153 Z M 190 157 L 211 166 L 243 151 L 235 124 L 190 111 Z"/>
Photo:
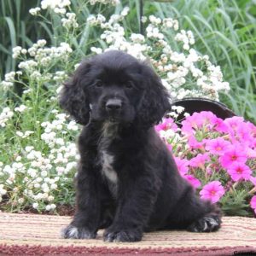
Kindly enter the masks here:
<path id="1" fill-rule="evenodd" d="M 177 20 L 150 15 L 144 19 L 148 20 L 145 37 L 132 33 L 130 38 L 125 38 L 125 29 L 119 22 L 124 20 L 128 11 L 125 9 L 123 15 L 112 15 L 109 20 L 102 15 L 89 17 L 90 25 L 103 29 L 101 38 L 108 44 L 108 49 L 123 50 L 142 61 L 149 57 L 173 98 L 204 96 L 218 100 L 219 90 L 230 89 L 229 83 L 223 81 L 220 68 L 212 65 L 207 56 L 201 56 L 191 48 L 195 44 L 194 35 L 191 31 L 178 31 Z M 173 50 L 168 44 L 165 36 L 168 30 L 175 33 L 173 39 L 177 45 L 182 45 L 181 52 Z M 102 53 L 102 49 L 96 47 L 91 47 L 91 51 Z"/>

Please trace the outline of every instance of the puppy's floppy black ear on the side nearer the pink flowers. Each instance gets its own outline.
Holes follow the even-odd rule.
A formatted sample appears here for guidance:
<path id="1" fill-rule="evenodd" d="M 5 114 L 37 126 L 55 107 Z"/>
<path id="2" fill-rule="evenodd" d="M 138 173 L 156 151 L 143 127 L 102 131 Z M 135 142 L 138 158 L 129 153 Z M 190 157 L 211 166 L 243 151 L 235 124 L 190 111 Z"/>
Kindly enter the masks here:
<path id="1" fill-rule="evenodd" d="M 137 109 L 137 122 L 150 127 L 160 122 L 171 110 L 170 96 L 153 68 L 143 65 L 143 96 Z"/>

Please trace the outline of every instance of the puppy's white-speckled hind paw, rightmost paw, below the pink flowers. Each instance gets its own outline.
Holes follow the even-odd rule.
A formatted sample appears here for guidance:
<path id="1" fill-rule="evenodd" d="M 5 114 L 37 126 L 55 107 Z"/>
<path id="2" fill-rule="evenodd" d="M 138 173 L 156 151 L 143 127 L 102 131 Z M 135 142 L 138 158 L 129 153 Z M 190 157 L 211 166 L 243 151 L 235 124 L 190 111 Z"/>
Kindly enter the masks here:
<path id="1" fill-rule="evenodd" d="M 221 220 L 218 216 L 205 216 L 195 221 L 188 228 L 191 232 L 212 232 L 220 228 Z"/>

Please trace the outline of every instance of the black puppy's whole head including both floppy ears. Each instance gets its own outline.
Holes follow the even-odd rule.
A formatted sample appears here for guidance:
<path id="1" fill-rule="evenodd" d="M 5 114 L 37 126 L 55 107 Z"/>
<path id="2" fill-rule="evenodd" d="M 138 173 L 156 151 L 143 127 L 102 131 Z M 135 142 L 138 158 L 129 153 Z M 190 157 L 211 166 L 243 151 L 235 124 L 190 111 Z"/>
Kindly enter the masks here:
<path id="1" fill-rule="evenodd" d="M 170 109 L 154 70 L 118 50 L 82 62 L 64 84 L 60 102 L 82 125 L 91 119 L 149 127 Z"/>

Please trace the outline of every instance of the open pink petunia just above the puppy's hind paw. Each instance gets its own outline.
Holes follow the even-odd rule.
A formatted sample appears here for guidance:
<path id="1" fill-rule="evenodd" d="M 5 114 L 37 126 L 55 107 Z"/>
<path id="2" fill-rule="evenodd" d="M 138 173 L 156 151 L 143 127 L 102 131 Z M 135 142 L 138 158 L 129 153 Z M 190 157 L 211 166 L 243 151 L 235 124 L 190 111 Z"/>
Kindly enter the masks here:
<path id="1" fill-rule="evenodd" d="M 219 181 L 207 183 L 200 191 L 201 199 L 216 203 L 224 195 L 225 190 Z"/>

